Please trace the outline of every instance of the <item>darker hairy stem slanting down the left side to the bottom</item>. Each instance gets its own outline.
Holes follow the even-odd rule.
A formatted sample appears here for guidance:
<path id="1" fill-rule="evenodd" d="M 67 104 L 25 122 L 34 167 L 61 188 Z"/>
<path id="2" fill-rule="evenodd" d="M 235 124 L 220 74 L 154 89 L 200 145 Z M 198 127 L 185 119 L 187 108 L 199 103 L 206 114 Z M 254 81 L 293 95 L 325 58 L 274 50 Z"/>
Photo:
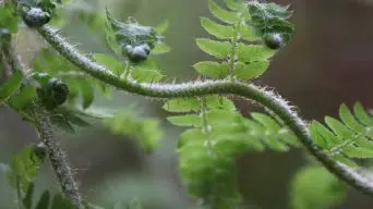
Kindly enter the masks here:
<path id="1" fill-rule="evenodd" d="M 14 52 L 11 41 L 2 45 L 2 57 L 9 65 L 9 70 L 14 73 L 20 71 L 25 74 L 25 69 L 21 59 Z M 51 167 L 57 175 L 61 185 L 62 192 L 79 209 L 83 209 L 82 198 L 77 192 L 76 182 L 73 179 L 67 157 L 61 149 L 60 138 L 52 130 L 51 121 L 48 112 L 37 103 L 32 104 L 33 110 L 33 124 L 39 133 L 39 138 L 46 145 L 48 158 Z M 20 198 L 20 195 L 19 195 Z"/>

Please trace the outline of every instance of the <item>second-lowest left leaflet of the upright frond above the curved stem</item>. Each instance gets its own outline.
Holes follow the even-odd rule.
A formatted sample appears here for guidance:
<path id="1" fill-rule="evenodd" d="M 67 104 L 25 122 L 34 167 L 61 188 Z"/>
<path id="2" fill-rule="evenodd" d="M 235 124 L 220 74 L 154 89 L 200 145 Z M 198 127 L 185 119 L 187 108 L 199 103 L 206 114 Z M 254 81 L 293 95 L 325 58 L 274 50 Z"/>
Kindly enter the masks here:
<path id="1" fill-rule="evenodd" d="M 227 58 L 231 47 L 228 41 L 221 42 L 206 38 L 197 38 L 196 45 L 204 52 L 216 58 Z"/>

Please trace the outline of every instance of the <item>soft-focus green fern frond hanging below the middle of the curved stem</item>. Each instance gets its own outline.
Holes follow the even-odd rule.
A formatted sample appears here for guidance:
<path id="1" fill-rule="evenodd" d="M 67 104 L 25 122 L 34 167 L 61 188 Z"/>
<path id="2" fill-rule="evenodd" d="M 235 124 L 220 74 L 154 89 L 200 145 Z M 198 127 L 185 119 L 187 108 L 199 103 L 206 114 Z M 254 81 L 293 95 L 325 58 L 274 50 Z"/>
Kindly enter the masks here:
<path id="1" fill-rule="evenodd" d="M 169 116 L 169 122 L 191 127 L 179 138 L 179 168 L 189 192 L 210 206 L 231 208 L 240 200 L 234 173 L 238 156 L 250 150 L 286 151 L 299 145 L 277 120 L 263 113 L 246 119 L 221 96 L 171 99 L 164 109 L 183 113 Z"/>

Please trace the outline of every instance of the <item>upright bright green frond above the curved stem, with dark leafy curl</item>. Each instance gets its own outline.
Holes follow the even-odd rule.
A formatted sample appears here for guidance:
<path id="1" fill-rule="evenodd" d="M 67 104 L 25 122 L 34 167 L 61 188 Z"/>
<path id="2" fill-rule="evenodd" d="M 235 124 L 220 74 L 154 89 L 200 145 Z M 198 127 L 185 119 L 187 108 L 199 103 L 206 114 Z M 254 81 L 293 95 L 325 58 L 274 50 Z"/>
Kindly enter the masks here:
<path id="1" fill-rule="evenodd" d="M 286 20 L 290 16 L 287 7 L 273 3 L 225 1 L 230 10 L 220 8 L 213 0 L 208 1 L 212 14 L 222 23 L 201 17 L 202 27 L 215 38 L 197 38 L 198 48 L 217 58 L 218 62 L 200 62 L 194 69 L 210 78 L 250 81 L 258 77 L 269 66 L 269 59 L 276 49 L 267 47 L 265 36 L 278 34 L 281 45 L 289 41 L 292 25 Z M 264 39 L 264 44 L 260 40 Z M 250 41 L 250 45 L 244 44 Z M 278 47 L 279 48 L 279 47 Z"/>

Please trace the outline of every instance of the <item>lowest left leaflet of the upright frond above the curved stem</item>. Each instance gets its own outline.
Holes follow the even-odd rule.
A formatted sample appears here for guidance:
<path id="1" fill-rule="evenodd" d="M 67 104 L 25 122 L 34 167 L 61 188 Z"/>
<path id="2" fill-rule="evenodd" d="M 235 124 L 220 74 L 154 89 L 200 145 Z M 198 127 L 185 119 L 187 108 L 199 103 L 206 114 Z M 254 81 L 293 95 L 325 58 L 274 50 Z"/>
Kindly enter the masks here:
<path id="1" fill-rule="evenodd" d="M 226 63 L 203 61 L 195 63 L 193 67 L 202 75 L 210 78 L 225 78 L 229 75 L 229 66 Z"/>

